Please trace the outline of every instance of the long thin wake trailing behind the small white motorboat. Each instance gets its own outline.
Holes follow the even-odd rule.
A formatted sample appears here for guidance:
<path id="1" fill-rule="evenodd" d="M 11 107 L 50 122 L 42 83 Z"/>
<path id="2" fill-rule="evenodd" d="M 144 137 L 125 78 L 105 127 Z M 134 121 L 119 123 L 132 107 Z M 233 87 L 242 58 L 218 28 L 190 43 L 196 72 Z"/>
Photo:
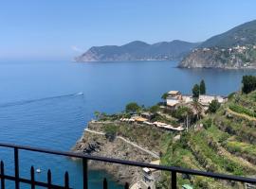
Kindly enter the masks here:
<path id="1" fill-rule="evenodd" d="M 8 102 L 8 103 L 0 104 L 0 108 L 11 107 L 11 106 L 19 106 L 19 105 L 25 105 L 25 104 L 34 103 L 34 102 L 39 102 L 39 101 L 45 101 L 45 100 L 56 99 L 56 98 L 64 98 L 64 97 L 79 96 L 79 95 L 83 95 L 83 93 L 81 92 L 81 93 L 77 93 L 77 94 L 55 95 L 55 96 L 44 97 L 44 98 L 39 98 L 39 99 L 21 100 L 21 101 L 15 101 L 15 102 Z"/>

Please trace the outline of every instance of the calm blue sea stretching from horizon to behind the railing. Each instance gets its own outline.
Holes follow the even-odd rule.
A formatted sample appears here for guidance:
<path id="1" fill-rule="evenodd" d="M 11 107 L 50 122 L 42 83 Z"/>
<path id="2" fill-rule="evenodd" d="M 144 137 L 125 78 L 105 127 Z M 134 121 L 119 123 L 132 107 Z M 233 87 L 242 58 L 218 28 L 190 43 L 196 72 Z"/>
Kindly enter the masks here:
<path id="1" fill-rule="evenodd" d="M 248 70 L 179 69 L 176 61 L 90 62 L 1 61 L 0 142 L 68 151 L 82 136 L 95 111 L 120 112 L 136 101 L 150 106 L 161 94 L 179 90 L 191 94 L 192 85 L 206 81 L 208 94 L 227 95 L 241 87 Z M 54 183 L 70 175 L 71 187 L 82 188 L 82 164 L 70 159 L 35 152 L 20 153 L 21 176 L 29 178 L 34 165 L 46 180 L 48 168 Z M 13 151 L 0 148 L 6 172 L 13 174 Z M 89 172 L 89 187 L 101 188 L 110 175 Z M 110 181 L 111 188 L 121 188 Z M 8 182 L 9 189 L 13 183 Z M 22 188 L 28 188 L 25 184 Z"/>

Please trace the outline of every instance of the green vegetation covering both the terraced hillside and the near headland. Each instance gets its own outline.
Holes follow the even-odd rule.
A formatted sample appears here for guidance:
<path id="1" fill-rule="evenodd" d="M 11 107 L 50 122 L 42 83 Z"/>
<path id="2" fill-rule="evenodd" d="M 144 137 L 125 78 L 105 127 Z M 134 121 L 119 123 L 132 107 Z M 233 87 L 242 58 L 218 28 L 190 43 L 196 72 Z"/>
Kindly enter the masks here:
<path id="1" fill-rule="evenodd" d="M 132 103 L 131 106 L 130 103 L 126 112 L 139 112 L 137 107 L 137 104 Z M 213 100 L 207 115 L 200 113 L 201 109 L 196 99 L 190 106 L 180 106 L 172 112 L 164 112 L 157 105 L 147 109 L 155 114 L 151 121 L 175 126 L 189 120 L 192 127 L 188 128 L 188 132 L 180 133 L 178 140 L 174 140 L 175 132 L 143 124 L 117 125 L 113 122 L 104 129 L 97 129 L 105 131 L 109 140 L 119 135 L 159 152 L 160 161 L 165 165 L 239 176 L 256 175 L 256 91 L 230 94 L 229 101 L 222 106 Z M 110 117 L 119 117 L 119 114 Z M 193 188 L 241 188 L 239 183 L 197 176 L 178 175 L 177 180 L 179 186 L 188 183 Z M 157 185 L 168 188 L 170 174 L 163 173 Z"/>

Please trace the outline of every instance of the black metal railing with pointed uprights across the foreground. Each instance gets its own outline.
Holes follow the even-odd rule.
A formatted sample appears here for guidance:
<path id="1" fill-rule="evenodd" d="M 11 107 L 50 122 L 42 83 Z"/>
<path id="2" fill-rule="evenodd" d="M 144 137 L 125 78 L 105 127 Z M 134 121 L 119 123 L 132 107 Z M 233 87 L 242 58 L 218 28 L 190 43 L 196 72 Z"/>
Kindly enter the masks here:
<path id="1" fill-rule="evenodd" d="M 210 178 L 219 179 L 219 180 L 233 180 L 233 181 L 240 181 L 240 182 L 244 182 L 244 183 L 256 184 L 256 179 L 252 179 L 252 178 L 224 175 L 224 174 L 212 173 L 212 172 L 204 172 L 204 171 L 192 170 L 192 169 L 181 168 L 181 167 L 155 165 L 155 164 L 150 164 L 150 163 L 137 163 L 137 162 L 131 162 L 131 161 L 123 161 L 123 160 L 112 159 L 112 158 L 103 158 L 103 157 L 98 157 L 98 156 L 84 155 L 81 153 L 64 152 L 64 151 L 50 150 L 50 149 L 31 147 L 31 146 L 17 146 L 17 145 L 11 145 L 11 144 L 3 144 L 3 143 L 0 143 L 0 146 L 13 148 L 13 150 L 14 150 L 14 176 L 6 175 L 4 163 L 1 162 L 1 164 L 0 164 L 1 165 L 0 166 L 1 189 L 5 189 L 5 180 L 15 181 L 15 189 L 20 188 L 20 183 L 29 184 L 31 186 L 31 189 L 34 189 L 35 186 L 43 186 L 43 187 L 51 188 L 51 189 L 53 189 L 53 188 L 54 189 L 55 188 L 56 189 L 59 189 L 59 188 L 69 189 L 70 188 L 68 172 L 65 172 L 65 174 L 64 174 L 64 186 L 56 185 L 56 184 L 52 183 L 50 170 L 48 170 L 48 172 L 47 172 L 47 182 L 35 180 L 33 166 L 31 166 L 31 169 L 30 169 L 30 180 L 21 178 L 20 172 L 19 172 L 19 151 L 20 150 L 34 151 L 34 152 L 54 154 L 54 155 L 59 155 L 59 156 L 82 159 L 82 171 L 83 171 L 82 188 L 83 189 L 88 189 L 88 160 L 100 161 L 100 162 L 104 162 L 104 163 L 118 163 L 118 164 L 131 165 L 131 166 L 137 166 L 137 167 L 148 167 L 148 168 L 154 168 L 154 169 L 161 170 L 161 171 L 171 172 L 171 175 L 172 175 L 171 188 L 172 189 L 176 189 L 176 187 L 177 187 L 176 186 L 177 173 L 187 174 L 187 175 L 195 175 L 195 176 L 204 176 L 204 177 L 210 177 Z M 124 188 L 128 189 L 129 184 L 125 183 Z M 103 180 L 103 189 L 107 189 L 107 180 L 106 179 Z"/>

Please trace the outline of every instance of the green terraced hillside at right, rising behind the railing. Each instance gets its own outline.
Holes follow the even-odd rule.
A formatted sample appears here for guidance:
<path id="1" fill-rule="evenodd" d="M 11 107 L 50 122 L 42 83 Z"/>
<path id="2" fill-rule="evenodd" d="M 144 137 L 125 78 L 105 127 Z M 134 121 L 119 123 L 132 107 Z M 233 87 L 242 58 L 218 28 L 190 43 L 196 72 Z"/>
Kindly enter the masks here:
<path id="1" fill-rule="evenodd" d="M 232 94 L 221 109 L 196 124 L 176 143 L 165 144 L 162 164 L 240 176 L 256 175 L 256 91 Z M 200 123 L 203 127 L 199 127 Z M 244 188 L 206 178 L 192 177 L 179 183 L 196 188 Z"/>

